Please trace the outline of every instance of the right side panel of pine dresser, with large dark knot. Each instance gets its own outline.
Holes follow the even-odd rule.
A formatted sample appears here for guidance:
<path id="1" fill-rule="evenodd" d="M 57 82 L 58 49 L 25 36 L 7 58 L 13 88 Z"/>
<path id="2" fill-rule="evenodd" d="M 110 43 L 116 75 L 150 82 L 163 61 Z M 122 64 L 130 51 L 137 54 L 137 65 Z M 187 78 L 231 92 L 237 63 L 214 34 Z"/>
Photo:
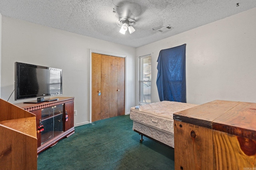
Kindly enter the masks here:
<path id="1" fill-rule="evenodd" d="M 253 170 L 256 167 L 255 140 L 215 130 L 213 139 L 216 170 Z"/>

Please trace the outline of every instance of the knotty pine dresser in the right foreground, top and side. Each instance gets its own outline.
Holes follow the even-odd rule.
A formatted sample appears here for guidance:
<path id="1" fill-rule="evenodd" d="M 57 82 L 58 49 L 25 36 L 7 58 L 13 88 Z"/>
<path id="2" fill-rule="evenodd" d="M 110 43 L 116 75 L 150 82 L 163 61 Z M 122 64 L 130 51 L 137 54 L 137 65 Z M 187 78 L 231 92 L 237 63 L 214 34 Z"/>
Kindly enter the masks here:
<path id="1" fill-rule="evenodd" d="M 175 170 L 256 170 L 256 104 L 215 100 L 174 113 Z"/>

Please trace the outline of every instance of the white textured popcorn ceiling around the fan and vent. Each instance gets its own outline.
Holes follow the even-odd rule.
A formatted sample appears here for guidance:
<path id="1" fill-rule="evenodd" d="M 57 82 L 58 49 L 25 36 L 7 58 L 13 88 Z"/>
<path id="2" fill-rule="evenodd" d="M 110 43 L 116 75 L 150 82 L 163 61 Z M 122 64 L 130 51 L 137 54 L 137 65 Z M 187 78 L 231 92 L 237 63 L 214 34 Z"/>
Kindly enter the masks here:
<path id="1" fill-rule="evenodd" d="M 124 6 L 135 15 L 136 31 L 132 34 L 119 33 L 116 24 Z M 2 16 L 130 47 L 140 47 L 255 7 L 256 0 L 0 0 Z M 152 29 L 168 24 L 174 29 L 166 33 Z"/>

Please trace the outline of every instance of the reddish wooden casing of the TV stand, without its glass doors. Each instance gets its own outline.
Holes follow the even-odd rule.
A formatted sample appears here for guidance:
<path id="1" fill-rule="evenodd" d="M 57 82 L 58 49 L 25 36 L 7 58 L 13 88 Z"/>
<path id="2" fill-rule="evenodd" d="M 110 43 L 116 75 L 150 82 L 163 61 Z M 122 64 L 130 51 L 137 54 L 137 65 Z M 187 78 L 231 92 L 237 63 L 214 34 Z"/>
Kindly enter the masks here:
<path id="1" fill-rule="evenodd" d="M 59 105 L 63 105 L 63 117 L 62 117 L 62 122 L 63 122 L 63 130 L 61 132 L 56 132 L 56 134 L 54 135 L 54 137 L 52 137 L 52 139 L 45 141 L 45 138 L 42 138 L 42 134 L 41 132 L 37 134 L 37 154 L 39 154 L 40 152 L 48 149 L 49 147 L 56 145 L 56 143 L 58 143 L 58 141 L 60 141 L 61 139 L 65 138 L 65 137 L 69 137 L 70 135 L 75 133 L 74 130 L 74 97 L 56 97 L 59 100 L 54 100 L 51 102 L 41 102 L 38 104 L 35 103 L 18 103 L 15 104 L 18 107 L 21 107 L 22 109 L 26 110 L 26 111 L 30 111 L 31 113 L 34 113 L 36 115 L 36 129 L 38 129 L 39 126 L 39 121 L 40 119 L 42 119 L 42 114 L 44 109 L 49 109 L 49 108 L 53 108 Z M 54 99 L 54 98 L 51 98 Z M 50 99 L 50 100 L 51 100 Z M 59 111 L 59 110 L 58 110 Z M 65 121 L 65 116 L 66 114 L 68 114 L 68 121 Z M 56 114 L 58 115 L 58 114 Z M 52 117 L 56 116 L 53 114 Z M 44 120 L 49 119 L 50 117 L 45 117 Z M 43 120 L 43 119 L 42 119 Z M 45 125 L 44 125 L 44 128 Z M 44 134 L 44 135 L 47 135 Z M 43 141 L 41 141 L 41 139 Z"/>

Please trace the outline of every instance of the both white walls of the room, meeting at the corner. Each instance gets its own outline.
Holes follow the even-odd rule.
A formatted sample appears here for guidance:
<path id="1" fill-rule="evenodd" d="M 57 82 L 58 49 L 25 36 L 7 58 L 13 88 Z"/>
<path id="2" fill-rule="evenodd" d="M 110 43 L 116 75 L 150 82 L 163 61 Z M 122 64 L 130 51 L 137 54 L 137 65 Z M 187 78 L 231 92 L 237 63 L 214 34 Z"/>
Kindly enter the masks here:
<path id="1" fill-rule="evenodd" d="M 139 47 L 118 45 L 26 21 L 0 17 L 2 23 L 1 98 L 14 90 L 14 62 L 63 69 L 63 95 L 75 97 L 75 124 L 89 121 L 90 49 L 126 55 L 126 111 L 138 104 L 138 57 L 152 55 L 152 102 L 158 102 L 160 50 L 186 43 L 187 102 L 256 102 L 256 8 Z M 175 29 L 175 28 L 174 28 Z M 1 53 L 0 53 L 1 54 Z M 135 57 L 136 56 L 136 57 Z M 136 70 L 134 69 L 136 67 Z M 136 76 L 135 76 L 136 75 Z M 134 85 L 134 80 L 137 84 Z M 12 94 L 9 102 L 14 101 Z"/>

